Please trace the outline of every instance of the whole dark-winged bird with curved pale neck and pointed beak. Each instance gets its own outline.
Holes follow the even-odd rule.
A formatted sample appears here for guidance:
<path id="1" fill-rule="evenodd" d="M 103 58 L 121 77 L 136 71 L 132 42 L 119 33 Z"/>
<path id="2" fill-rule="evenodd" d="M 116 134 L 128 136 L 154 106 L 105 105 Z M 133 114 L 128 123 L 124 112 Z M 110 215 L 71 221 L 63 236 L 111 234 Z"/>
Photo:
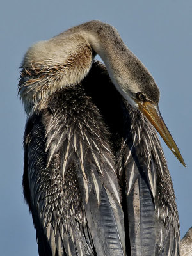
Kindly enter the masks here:
<path id="1" fill-rule="evenodd" d="M 40 256 L 180 255 L 156 130 L 185 163 L 154 78 L 113 26 L 92 20 L 29 47 L 19 95 L 22 184 Z"/>

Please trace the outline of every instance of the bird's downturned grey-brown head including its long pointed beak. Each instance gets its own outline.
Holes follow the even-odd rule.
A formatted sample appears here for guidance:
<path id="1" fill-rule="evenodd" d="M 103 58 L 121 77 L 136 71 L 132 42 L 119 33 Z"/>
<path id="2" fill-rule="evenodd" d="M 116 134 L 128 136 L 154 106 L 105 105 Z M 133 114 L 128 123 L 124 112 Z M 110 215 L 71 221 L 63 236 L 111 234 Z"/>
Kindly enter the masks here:
<path id="1" fill-rule="evenodd" d="M 125 63 L 125 62 L 124 62 Z M 147 68 L 131 53 L 121 72 L 116 74 L 116 86 L 119 92 L 134 108 L 138 109 L 154 125 L 164 142 L 184 166 L 179 148 L 159 111 L 159 88 Z"/>

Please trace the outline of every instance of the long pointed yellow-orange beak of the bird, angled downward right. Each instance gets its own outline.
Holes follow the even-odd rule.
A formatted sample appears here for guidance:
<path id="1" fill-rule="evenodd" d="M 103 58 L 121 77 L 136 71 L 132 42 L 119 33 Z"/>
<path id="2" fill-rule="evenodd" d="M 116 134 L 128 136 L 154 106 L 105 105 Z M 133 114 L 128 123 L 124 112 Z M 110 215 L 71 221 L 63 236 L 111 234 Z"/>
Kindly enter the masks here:
<path id="1" fill-rule="evenodd" d="M 154 125 L 157 132 L 161 135 L 168 148 L 173 152 L 173 154 L 179 159 L 180 163 L 186 166 L 184 159 L 182 158 L 179 148 L 175 144 L 175 141 L 172 138 L 166 124 L 164 124 L 163 118 L 159 111 L 158 105 L 154 102 L 139 102 L 134 99 L 136 104 L 138 104 L 138 109 L 147 117 L 149 122 Z"/>

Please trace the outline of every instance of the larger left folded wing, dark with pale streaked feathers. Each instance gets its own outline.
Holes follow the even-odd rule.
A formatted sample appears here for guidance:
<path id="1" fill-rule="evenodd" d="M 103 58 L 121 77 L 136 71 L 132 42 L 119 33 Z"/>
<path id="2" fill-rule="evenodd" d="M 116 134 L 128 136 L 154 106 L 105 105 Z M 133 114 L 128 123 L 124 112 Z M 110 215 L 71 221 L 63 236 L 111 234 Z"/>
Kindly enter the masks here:
<path id="1" fill-rule="evenodd" d="M 24 191 L 29 190 L 40 256 L 125 255 L 124 216 L 108 131 L 100 116 L 97 120 L 97 109 L 85 115 L 90 99 L 82 94 L 81 88 L 56 94 L 49 109 L 34 113 L 27 124 L 29 188 Z M 74 106 L 76 99 L 82 102 L 75 111 L 68 101 Z"/>

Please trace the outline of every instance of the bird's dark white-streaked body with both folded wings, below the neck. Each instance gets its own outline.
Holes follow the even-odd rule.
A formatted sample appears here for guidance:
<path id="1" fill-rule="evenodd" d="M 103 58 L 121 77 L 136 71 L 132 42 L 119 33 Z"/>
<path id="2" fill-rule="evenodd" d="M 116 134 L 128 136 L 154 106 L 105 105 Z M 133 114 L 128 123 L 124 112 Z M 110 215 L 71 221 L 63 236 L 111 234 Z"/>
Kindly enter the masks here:
<path id="1" fill-rule="evenodd" d="M 179 255 L 157 134 L 103 65 L 93 63 L 80 84 L 52 93 L 29 116 L 24 147 L 24 194 L 41 256 Z"/>

